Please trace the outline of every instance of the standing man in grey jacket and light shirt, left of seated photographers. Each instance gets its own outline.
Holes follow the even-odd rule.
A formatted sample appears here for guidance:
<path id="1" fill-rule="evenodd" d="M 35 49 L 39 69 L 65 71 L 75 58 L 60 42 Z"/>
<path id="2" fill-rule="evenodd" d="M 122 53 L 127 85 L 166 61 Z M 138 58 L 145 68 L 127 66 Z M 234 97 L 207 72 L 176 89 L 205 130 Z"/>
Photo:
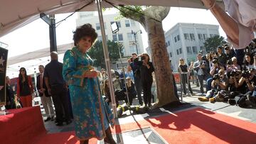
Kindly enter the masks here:
<path id="1" fill-rule="evenodd" d="M 203 94 L 203 80 L 207 80 L 208 78 L 210 78 L 210 74 L 207 71 L 208 70 L 208 65 L 207 62 L 205 60 L 202 60 L 202 54 L 198 53 L 197 55 L 197 61 L 194 63 L 193 67 L 194 70 L 196 70 L 196 75 L 198 77 L 199 80 L 199 85 L 200 85 L 200 90 L 201 93 Z"/>

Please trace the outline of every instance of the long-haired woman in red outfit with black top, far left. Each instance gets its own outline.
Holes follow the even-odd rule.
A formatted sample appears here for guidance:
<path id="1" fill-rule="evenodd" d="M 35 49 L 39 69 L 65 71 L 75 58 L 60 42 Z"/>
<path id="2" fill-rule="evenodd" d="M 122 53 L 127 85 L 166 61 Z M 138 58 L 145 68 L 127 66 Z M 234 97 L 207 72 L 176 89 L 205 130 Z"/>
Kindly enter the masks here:
<path id="1" fill-rule="evenodd" d="M 32 79 L 26 74 L 26 69 L 21 67 L 17 80 L 17 96 L 21 99 L 23 107 L 32 106 L 32 93 Z"/>

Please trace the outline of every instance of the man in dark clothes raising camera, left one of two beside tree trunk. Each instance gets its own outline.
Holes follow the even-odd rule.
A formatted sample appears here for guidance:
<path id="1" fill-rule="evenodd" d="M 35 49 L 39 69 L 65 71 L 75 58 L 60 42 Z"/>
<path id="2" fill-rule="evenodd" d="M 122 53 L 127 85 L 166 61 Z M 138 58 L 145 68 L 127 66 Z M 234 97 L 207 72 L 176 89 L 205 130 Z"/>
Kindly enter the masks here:
<path id="1" fill-rule="evenodd" d="M 132 53 L 132 57 L 129 58 L 128 60 L 128 67 L 132 68 L 132 72 L 134 73 L 134 84 L 139 100 L 139 104 L 143 105 L 142 102 L 142 82 L 141 82 L 141 77 L 140 77 L 140 70 L 139 70 L 139 65 L 137 65 L 134 60 L 138 59 L 137 53 Z"/>

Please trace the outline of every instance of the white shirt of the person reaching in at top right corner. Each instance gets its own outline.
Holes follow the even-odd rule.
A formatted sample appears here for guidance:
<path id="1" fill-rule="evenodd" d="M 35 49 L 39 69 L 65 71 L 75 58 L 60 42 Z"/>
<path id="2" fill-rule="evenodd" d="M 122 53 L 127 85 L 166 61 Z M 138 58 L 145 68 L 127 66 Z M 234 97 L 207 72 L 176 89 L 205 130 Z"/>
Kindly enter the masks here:
<path id="1" fill-rule="evenodd" d="M 225 11 L 238 23 L 239 28 L 239 45 L 233 43 L 235 49 L 243 49 L 255 35 L 256 31 L 256 0 L 223 0 Z"/>

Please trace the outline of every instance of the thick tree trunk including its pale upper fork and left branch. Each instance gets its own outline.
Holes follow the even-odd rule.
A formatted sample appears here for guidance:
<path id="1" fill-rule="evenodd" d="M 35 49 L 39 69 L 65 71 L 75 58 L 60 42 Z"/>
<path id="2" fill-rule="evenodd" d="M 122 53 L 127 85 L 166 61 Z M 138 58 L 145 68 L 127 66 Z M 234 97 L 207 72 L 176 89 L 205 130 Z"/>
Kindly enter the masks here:
<path id="1" fill-rule="evenodd" d="M 142 13 L 129 13 L 126 9 L 125 17 L 139 21 L 145 28 L 149 37 L 149 48 L 151 50 L 151 58 L 155 68 L 156 89 L 158 103 L 154 108 L 161 107 L 171 102 L 178 102 L 174 94 L 173 77 L 169 63 L 168 52 L 166 49 L 164 30 L 161 21 L 168 15 L 170 8 L 164 6 L 150 6 Z M 127 14 L 128 13 L 128 14 Z"/>

